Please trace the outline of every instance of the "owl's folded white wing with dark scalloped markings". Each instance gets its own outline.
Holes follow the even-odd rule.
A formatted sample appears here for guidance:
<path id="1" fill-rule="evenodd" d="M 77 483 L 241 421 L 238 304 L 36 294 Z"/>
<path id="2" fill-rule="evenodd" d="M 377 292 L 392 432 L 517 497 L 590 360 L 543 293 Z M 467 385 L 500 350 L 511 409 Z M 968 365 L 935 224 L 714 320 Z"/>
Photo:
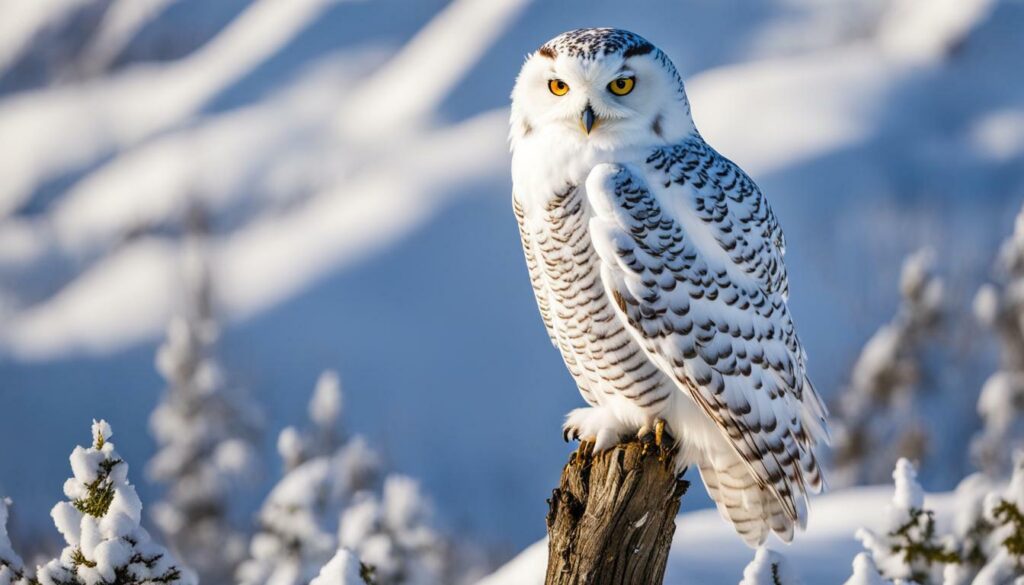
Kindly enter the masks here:
<path id="1" fill-rule="evenodd" d="M 785 302 L 782 236 L 761 193 L 710 148 L 602 164 L 587 180 L 607 294 L 648 357 L 714 420 L 758 488 L 806 521 L 825 409 Z M 792 525 L 791 525 L 792 526 Z"/>

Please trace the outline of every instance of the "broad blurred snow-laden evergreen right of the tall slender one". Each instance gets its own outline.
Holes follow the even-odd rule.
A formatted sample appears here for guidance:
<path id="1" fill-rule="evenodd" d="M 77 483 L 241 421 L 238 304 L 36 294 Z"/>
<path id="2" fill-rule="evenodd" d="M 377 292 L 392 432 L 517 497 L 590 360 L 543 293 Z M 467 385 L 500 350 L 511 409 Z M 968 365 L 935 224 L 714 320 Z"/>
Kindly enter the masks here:
<path id="1" fill-rule="evenodd" d="M 238 581 L 306 585 L 343 548 L 376 585 L 453 583 L 450 547 L 430 526 L 430 504 L 413 479 L 382 480 L 380 458 L 367 442 L 345 438 L 341 405 L 338 377 L 327 372 L 309 403 L 308 428 L 282 431 L 287 472 L 260 508 L 261 529 Z"/>

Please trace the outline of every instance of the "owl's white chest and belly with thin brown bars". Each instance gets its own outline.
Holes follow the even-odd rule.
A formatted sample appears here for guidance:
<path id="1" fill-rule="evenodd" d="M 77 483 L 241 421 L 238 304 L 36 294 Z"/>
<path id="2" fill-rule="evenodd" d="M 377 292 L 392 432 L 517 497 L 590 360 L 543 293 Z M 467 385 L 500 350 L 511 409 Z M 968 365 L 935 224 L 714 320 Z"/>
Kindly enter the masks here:
<path id="1" fill-rule="evenodd" d="M 621 153 L 567 150 L 530 158 L 532 167 L 518 161 L 517 170 L 532 169 L 528 180 L 516 177 L 514 196 L 530 280 L 552 340 L 584 399 L 613 407 L 641 426 L 669 406 L 675 386 L 646 357 L 605 290 L 585 187 L 594 165 Z"/>

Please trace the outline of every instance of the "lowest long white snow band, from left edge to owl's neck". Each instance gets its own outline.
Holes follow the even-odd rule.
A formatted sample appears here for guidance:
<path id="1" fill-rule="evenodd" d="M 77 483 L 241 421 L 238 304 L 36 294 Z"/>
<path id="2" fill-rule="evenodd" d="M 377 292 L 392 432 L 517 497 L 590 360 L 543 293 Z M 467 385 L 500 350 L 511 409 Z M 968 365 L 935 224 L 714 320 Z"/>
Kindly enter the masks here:
<path id="1" fill-rule="evenodd" d="M 214 243 L 210 253 L 223 279 L 218 289 L 223 309 L 233 318 L 264 310 L 325 271 L 389 243 L 390 234 L 425 221 L 451 196 L 450 190 L 495 172 L 506 161 L 504 142 L 487 139 L 497 129 L 504 131 L 505 116 L 488 113 L 428 133 L 392 153 L 386 166 L 368 166 L 290 212 L 254 220 Z M 439 164 L 447 160 L 466 164 L 458 170 Z M 393 197 L 381 199 L 380 193 Z M 142 239 L 25 311 L 0 335 L 15 353 L 34 360 L 69 350 L 109 352 L 137 343 L 160 331 L 170 317 L 175 265 L 170 246 Z M 267 280 L 268 273 L 281 278 Z M 118 281 L 126 287 L 111 291 L 109 283 Z M 125 315 L 126 308 L 131 315 Z"/>

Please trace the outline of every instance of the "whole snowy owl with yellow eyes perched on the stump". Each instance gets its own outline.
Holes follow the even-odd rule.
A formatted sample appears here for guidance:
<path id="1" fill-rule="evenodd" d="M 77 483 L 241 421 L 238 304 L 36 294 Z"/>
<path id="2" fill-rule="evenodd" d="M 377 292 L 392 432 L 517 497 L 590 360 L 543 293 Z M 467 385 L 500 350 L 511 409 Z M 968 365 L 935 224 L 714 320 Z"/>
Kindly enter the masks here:
<path id="1" fill-rule="evenodd" d="M 614 29 L 564 33 L 512 91 L 513 207 L 541 317 L 595 452 L 675 438 L 754 546 L 793 538 L 826 412 L 786 306 L 778 222 L 700 137 L 669 57 Z"/>

